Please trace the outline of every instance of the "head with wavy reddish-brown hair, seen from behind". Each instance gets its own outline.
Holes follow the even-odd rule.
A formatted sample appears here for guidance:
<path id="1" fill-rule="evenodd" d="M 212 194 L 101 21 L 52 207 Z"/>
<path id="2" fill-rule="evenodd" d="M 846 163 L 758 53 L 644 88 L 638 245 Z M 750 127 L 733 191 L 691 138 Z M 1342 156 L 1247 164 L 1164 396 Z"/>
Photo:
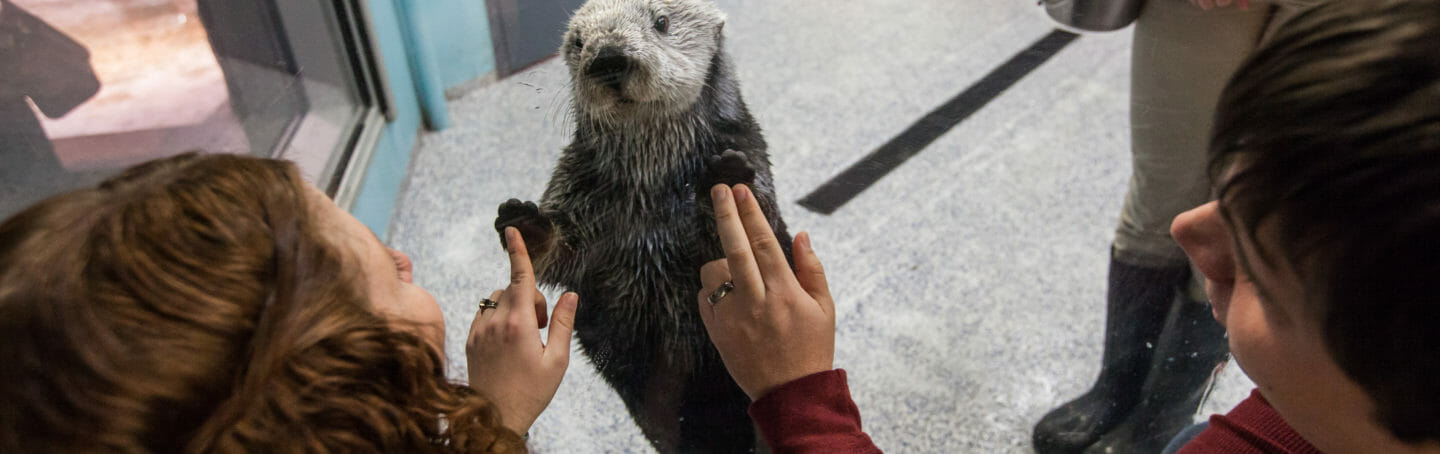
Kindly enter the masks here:
<path id="1" fill-rule="evenodd" d="M 409 261 L 282 161 L 186 154 L 0 223 L 0 451 L 520 451 Z"/>

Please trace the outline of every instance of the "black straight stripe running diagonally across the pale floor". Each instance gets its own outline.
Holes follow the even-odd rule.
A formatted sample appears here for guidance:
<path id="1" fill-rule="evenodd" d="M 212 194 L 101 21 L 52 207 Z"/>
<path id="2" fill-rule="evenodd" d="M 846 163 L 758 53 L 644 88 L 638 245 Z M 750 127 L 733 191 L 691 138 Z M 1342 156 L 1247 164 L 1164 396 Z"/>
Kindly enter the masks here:
<path id="1" fill-rule="evenodd" d="M 991 71 L 984 79 L 975 82 L 963 92 L 952 98 L 940 108 L 926 114 L 910 128 L 896 135 L 888 143 L 865 156 L 841 174 L 835 176 L 815 192 L 801 199 L 799 205 L 824 215 L 834 213 L 847 202 L 858 196 L 887 173 L 900 167 L 907 159 L 924 150 L 946 131 L 965 121 L 991 99 L 999 97 L 1017 81 L 1022 79 L 1041 63 L 1074 42 L 1080 35 L 1064 30 L 1050 32 L 1028 49 L 1017 53 L 1008 62 Z"/>

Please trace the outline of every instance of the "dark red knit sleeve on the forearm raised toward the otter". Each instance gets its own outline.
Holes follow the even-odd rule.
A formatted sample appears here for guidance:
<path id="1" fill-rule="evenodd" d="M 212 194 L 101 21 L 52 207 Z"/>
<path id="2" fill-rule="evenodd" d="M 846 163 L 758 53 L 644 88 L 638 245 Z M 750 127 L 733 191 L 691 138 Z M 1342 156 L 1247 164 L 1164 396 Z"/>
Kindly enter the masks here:
<path id="1" fill-rule="evenodd" d="M 750 404 L 750 418 L 776 454 L 880 453 L 860 429 L 845 370 L 835 369 L 780 385 Z"/>

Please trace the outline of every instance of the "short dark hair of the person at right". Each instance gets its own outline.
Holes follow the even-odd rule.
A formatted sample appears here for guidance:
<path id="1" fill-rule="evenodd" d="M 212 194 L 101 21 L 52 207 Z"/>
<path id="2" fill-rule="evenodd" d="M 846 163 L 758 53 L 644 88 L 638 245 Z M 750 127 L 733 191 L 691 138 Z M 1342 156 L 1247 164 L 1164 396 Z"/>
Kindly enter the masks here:
<path id="1" fill-rule="evenodd" d="M 1257 255 L 1297 271 L 1380 424 L 1440 441 L 1440 1 L 1336 0 L 1284 25 L 1221 95 L 1211 153 L 1223 213 L 1248 238 L 1273 222 Z"/>

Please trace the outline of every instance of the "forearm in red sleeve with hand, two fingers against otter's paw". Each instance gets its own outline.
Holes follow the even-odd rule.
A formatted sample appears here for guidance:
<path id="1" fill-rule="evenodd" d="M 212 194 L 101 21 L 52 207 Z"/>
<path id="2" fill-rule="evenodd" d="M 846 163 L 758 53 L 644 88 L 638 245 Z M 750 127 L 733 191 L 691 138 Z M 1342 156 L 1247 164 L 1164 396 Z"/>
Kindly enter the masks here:
<path id="1" fill-rule="evenodd" d="M 791 271 L 749 187 L 717 184 L 710 197 L 726 258 L 700 270 L 700 319 L 765 441 L 775 453 L 878 453 L 834 369 L 835 303 L 809 233 L 795 236 Z"/>

